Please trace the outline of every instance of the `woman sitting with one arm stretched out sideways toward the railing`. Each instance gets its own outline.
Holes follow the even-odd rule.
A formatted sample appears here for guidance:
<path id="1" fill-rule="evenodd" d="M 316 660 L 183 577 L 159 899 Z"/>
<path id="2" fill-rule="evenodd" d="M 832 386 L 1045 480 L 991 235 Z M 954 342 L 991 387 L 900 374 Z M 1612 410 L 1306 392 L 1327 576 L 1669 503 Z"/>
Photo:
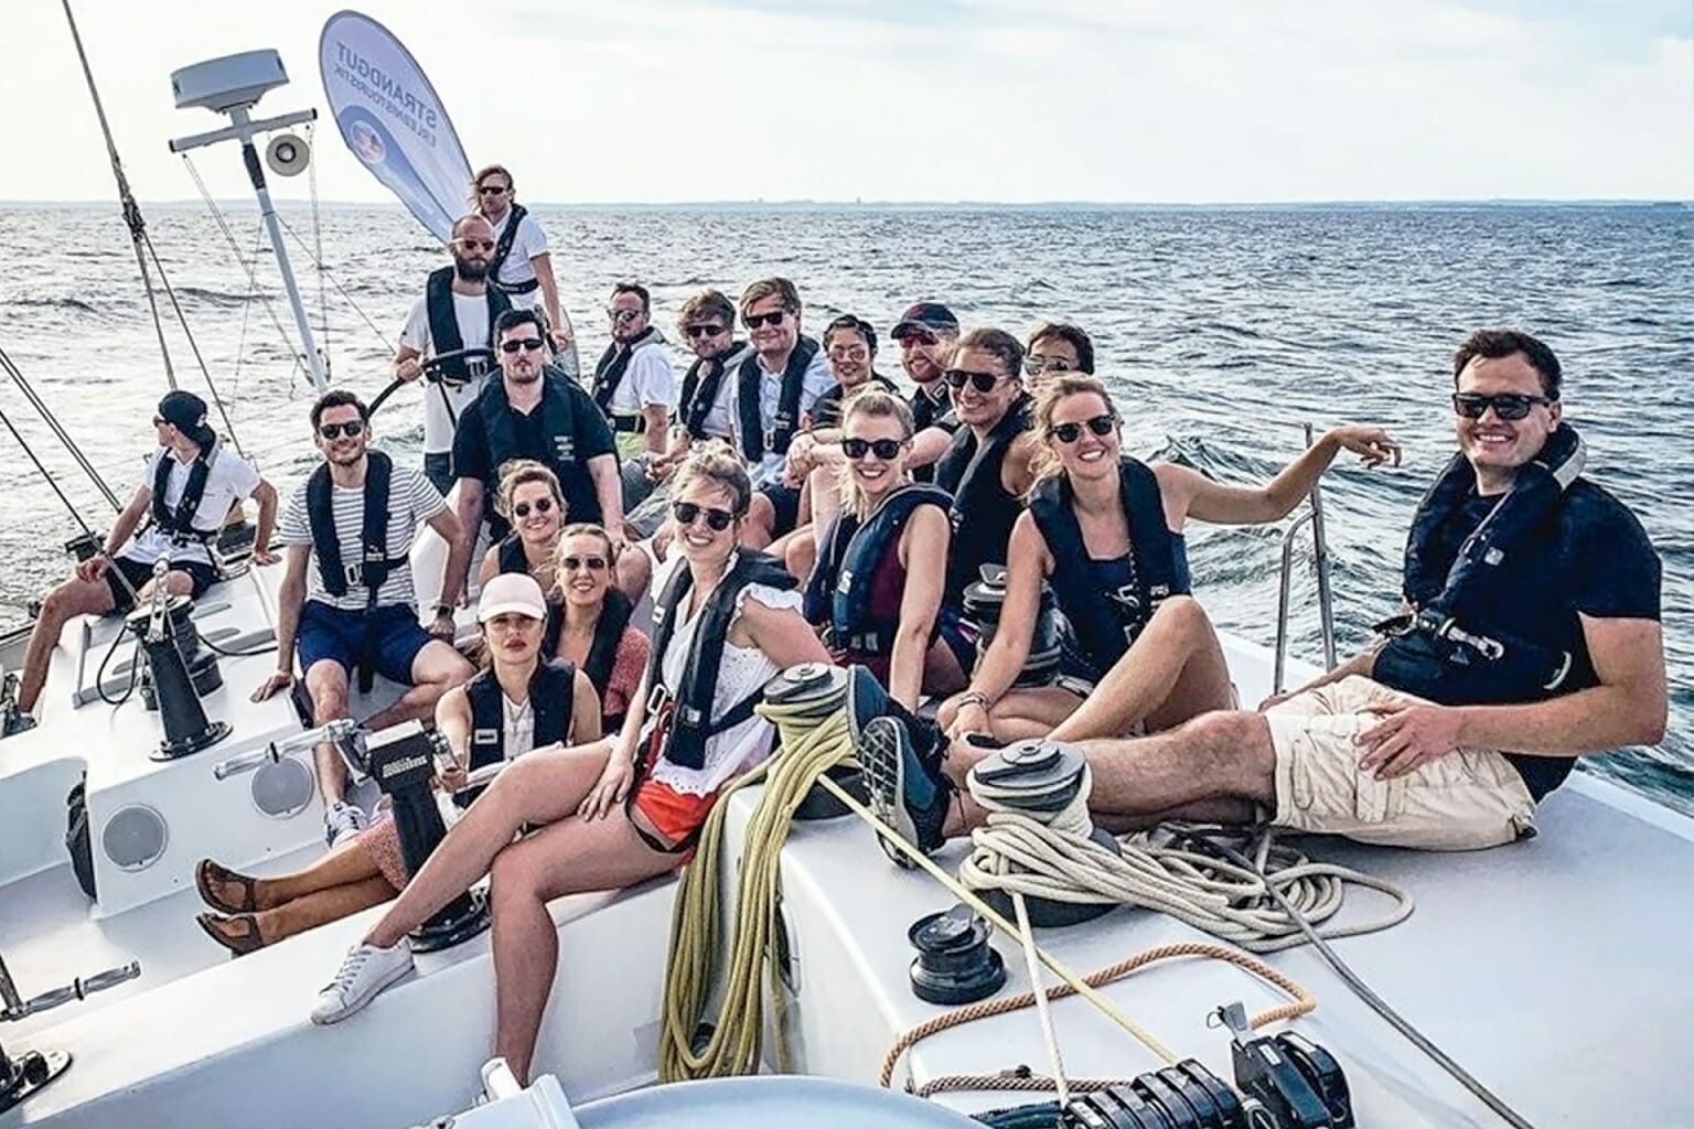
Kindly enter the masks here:
<path id="1" fill-rule="evenodd" d="M 1187 520 L 1277 521 L 1342 450 L 1367 467 L 1399 460 L 1382 428 L 1338 427 L 1265 486 L 1226 486 L 1174 462 L 1125 455 L 1120 421 L 1101 381 L 1054 372 L 1044 383 L 1037 482 L 1011 531 L 999 626 L 969 689 L 938 716 L 954 736 L 1081 741 L 1230 709 L 1216 631 L 1187 594 Z M 1011 689 L 1028 660 L 1044 581 L 1071 625 L 1071 669 L 1057 686 Z"/>

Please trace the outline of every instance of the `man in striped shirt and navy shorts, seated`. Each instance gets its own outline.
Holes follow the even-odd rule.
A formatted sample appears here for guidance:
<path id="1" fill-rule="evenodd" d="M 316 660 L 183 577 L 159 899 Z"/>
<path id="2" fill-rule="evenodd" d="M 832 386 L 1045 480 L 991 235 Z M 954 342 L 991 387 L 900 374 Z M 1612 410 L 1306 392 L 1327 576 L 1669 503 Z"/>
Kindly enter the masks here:
<path id="1" fill-rule="evenodd" d="M 361 692 L 373 674 L 410 687 L 371 714 L 366 730 L 429 718 L 435 699 L 471 677 L 471 664 L 452 648 L 452 601 L 446 594 L 430 630 L 420 626 L 407 553 L 427 523 L 447 542 L 447 576 L 464 576 L 471 543 L 417 467 L 366 449 L 369 410 L 357 396 L 325 393 L 312 405 L 312 432 L 325 462 L 283 511 L 278 543 L 288 557 L 276 599 L 278 665 L 252 699 L 264 701 L 293 682 L 298 648 L 315 724 L 351 716 L 354 670 Z M 335 846 L 357 834 L 364 816 L 347 804 L 347 768 L 335 746 L 320 745 L 315 760 L 325 840 Z"/>

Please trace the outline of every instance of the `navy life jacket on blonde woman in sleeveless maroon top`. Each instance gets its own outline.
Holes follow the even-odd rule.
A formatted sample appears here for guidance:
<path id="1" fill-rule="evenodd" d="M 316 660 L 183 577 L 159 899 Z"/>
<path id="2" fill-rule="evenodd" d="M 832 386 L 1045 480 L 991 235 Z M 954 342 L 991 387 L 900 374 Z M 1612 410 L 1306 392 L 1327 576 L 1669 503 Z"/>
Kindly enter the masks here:
<path id="1" fill-rule="evenodd" d="M 889 653 L 900 623 L 876 620 L 871 613 L 876 569 L 889 545 L 900 542 L 918 506 L 940 506 L 945 511 L 950 504 L 952 498 L 944 489 L 908 484 L 883 499 L 864 525 L 845 509 L 839 513 L 820 542 L 818 562 L 806 582 L 806 621 L 827 623 L 830 643 L 840 650 L 859 655 Z"/>

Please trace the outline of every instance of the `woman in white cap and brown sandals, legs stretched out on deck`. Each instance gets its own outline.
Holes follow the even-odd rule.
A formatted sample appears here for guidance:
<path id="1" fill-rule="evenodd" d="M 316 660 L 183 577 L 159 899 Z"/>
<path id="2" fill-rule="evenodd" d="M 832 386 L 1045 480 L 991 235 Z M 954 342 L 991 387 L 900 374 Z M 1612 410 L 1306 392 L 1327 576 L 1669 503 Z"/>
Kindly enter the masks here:
<path id="1" fill-rule="evenodd" d="M 542 657 L 545 616 L 547 603 L 534 577 L 508 572 L 483 587 L 476 616 L 483 623 L 483 669 L 435 704 L 435 724 L 457 762 L 442 774 L 444 789 L 457 792 L 466 772 L 535 748 L 600 740 L 600 697 L 588 675 Z M 454 796 L 459 807 L 471 799 Z M 276 878 L 254 878 L 203 858 L 195 884 L 220 912 L 197 921 L 241 956 L 386 902 L 410 877 L 395 821 L 381 819 L 351 846 Z"/>

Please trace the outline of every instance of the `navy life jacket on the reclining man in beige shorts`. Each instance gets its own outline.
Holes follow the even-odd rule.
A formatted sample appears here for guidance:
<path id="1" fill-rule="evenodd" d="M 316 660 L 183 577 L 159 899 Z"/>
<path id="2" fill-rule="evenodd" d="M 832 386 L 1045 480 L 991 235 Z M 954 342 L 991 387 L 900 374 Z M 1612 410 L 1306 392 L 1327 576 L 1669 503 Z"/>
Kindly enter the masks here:
<path id="1" fill-rule="evenodd" d="M 1374 675 L 1392 687 L 1443 687 L 1437 701 L 1538 701 L 1564 692 L 1575 653 L 1567 628 L 1542 608 L 1523 608 L 1525 577 L 1547 569 L 1548 530 L 1565 491 L 1582 474 L 1586 452 L 1560 425 L 1533 462 L 1475 528 L 1475 471 L 1455 455 L 1418 504 L 1406 538 L 1403 594 L 1408 614 L 1377 625 L 1389 643 Z"/>

